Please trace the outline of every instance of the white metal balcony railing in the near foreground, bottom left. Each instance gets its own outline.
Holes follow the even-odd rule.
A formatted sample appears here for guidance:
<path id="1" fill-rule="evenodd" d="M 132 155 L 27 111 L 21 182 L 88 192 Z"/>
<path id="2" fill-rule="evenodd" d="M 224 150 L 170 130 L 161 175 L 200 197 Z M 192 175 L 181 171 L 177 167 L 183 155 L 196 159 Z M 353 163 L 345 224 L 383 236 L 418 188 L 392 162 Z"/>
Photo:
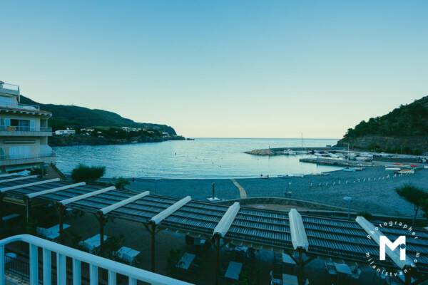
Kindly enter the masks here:
<path id="1" fill-rule="evenodd" d="M 4 247 L 12 242 L 26 242 L 29 244 L 29 271 L 30 284 L 39 284 L 39 247 L 42 249 L 42 279 L 44 285 L 50 285 L 51 282 L 51 252 L 56 253 L 56 284 L 66 285 L 67 281 L 67 266 L 66 257 L 73 260 L 73 285 L 81 285 L 81 262 L 89 264 L 89 284 L 98 285 L 98 269 L 106 269 L 108 271 L 108 285 L 116 284 L 116 274 L 121 274 L 128 277 L 128 284 L 136 285 L 137 281 L 143 281 L 153 285 L 191 285 L 185 281 L 172 279 L 167 276 L 138 269 L 133 266 L 121 264 L 110 259 L 98 257 L 87 252 L 81 252 L 78 249 L 72 249 L 62 244 L 56 244 L 46 239 L 34 237 L 29 234 L 21 234 L 14 237 L 8 237 L 0 241 L 0 285 L 6 285 L 5 277 L 5 258 Z"/>

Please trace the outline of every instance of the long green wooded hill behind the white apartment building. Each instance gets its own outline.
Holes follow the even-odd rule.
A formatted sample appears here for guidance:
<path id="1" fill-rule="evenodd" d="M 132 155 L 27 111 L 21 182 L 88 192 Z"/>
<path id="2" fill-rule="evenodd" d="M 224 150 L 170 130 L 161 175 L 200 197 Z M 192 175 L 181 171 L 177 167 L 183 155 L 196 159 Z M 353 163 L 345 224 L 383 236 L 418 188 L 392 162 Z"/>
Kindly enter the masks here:
<path id="1" fill-rule="evenodd" d="M 51 112 L 52 118 L 49 119 L 49 126 L 54 130 L 66 127 L 131 127 L 158 130 L 162 133 L 176 135 L 175 130 L 169 125 L 137 123 L 131 119 L 123 118 L 121 115 L 106 110 L 89 109 L 74 105 L 42 104 L 23 95 L 21 95 L 21 103 L 39 105 L 41 110 Z"/>

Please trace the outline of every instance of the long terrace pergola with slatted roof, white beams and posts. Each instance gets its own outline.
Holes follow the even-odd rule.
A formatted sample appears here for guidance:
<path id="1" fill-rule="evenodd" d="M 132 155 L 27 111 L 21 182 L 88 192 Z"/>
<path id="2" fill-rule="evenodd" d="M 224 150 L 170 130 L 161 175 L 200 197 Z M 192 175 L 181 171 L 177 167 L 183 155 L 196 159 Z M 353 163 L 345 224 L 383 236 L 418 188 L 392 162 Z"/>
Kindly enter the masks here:
<path id="1" fill-rule="evenodd" d="M 228 242 L 256 249 L 287 252 L 295 259 L 300 277 L 302 266 L 315 257 L 367 263 L 366 253 L 371 257 L 379 256 L 376 238 L 367 238 L 370 227 L 374 226 L 362 217 L 358 217 L 357 222 L 346 221 L 301 215 L 295 209 L 289 213 L 276 212 L 240 207 L 238 202 L 227 206 L 195 201 L 189 196 L 174 199 L 151 195 L 150 192 L 133 193 L 116 190 L 115 187 L 86 185 L 85 182 L 41 180 L 34 176 L 0 177 L 0 202 L 24 205 L 28 219 L 31 215 L 31 203 L 35 200 L 56 204 L 60 240 L 63 236 L 64 209 L 78 209 L 95 214 L 100 227 L 101 250 L 107 217 L 143 224 L 151 233 L 152 271 L 155 271 L 156 233 L 162 229 L 213 240 L 217 249 L 217 273 L 220 268 L 220 247 Z M 414 231 L 417 232 L 418 239 L 414 239 L 411 232 L 400 227 L 382 229 L 382 233 L 390 240 L 401 235 L 408 237 L 407 259 L 417 259 L 419 279 L 416 282 L 421 282 L 428 275 L 428 231 L 419 228 L 414 228 Z M 298 258 L 294 257 L 294 252 L 297 252 Z M 398 262 L 394 252 L 387 252 L 387 260 L 380 265 L 389 269 L 407 269 L 409 263 Z M 410 274 L 406 274 L 406 284 L 411 284 Z"/>

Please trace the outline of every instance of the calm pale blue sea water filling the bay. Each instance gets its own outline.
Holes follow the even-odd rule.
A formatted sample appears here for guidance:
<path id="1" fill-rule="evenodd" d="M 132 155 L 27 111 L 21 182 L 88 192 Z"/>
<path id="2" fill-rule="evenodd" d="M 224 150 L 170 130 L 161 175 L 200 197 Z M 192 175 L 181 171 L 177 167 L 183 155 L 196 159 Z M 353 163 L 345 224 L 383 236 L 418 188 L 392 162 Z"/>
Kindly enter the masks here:
<path id="1" fill-rule="evenodd" d="M 306 139 L 325 147 L 337 140 Z M 106 167 L 105 177 L 230 178 L 261 174 L 310 174 L 338 167 L 300 163 L 302 155 L 262 157 L 243 152 L 267 147 L 300 147 L 300 139 L 199 138 L 135 145 L 55 147 L 57 166 L 70 173 L 78 163 Z"/>

